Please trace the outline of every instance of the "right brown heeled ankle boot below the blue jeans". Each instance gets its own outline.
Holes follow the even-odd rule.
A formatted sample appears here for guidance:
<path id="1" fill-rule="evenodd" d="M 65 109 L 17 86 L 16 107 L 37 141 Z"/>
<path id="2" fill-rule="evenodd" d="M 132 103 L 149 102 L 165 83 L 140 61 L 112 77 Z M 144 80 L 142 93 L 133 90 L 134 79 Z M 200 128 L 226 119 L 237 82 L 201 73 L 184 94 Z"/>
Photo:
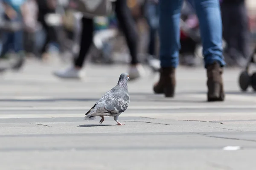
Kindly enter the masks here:
<path id="1" fill-rule="evenodd" d="M 224 101 L 224 85 L 222 80 L 223 69 L 215 62 L 211 65 L 207 65 L 207 87 L 208 102 L 212 101 Z"/>

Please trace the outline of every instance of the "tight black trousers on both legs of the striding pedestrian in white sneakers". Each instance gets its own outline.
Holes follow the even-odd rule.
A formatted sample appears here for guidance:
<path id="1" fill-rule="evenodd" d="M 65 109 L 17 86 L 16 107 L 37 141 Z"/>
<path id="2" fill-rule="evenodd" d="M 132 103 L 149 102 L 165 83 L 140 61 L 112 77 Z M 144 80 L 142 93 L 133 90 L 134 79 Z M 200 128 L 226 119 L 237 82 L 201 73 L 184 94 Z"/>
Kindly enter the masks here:
<path id="1" fill-rule="evenodd" d="M 137 45 L 138 33 L 134 19 L 132 18 L 131 11 L 126 4 L 126 0 L 116 0 L 115 12 L 118 20 L 119 27 L 122 29 L 125 40 L 127 42 L 130 54 L 131 64 L 137 64 Z M 75 65 L 82 67 L 84 59 L 87 56 L 90 45 L 93 42 L 93 20 L 86 17 L 82 18 L 82 34 L 80 42 L 79 56 L 75 59 Z"/>

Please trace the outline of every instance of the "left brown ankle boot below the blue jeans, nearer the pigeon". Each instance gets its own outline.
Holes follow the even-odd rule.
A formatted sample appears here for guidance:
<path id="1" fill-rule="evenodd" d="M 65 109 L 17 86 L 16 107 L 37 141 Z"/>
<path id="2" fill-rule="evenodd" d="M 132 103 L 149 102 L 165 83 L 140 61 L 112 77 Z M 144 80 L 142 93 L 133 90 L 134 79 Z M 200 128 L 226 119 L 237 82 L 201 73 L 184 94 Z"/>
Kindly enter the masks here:
<path id="1" fill-rule="evenodd" d="M 157 94 L 164 93 L 166 97 L 173 97 L 175 92 L 175 68 L 161 68 L 160 79 L 154 85 L 154 92 Z"/>

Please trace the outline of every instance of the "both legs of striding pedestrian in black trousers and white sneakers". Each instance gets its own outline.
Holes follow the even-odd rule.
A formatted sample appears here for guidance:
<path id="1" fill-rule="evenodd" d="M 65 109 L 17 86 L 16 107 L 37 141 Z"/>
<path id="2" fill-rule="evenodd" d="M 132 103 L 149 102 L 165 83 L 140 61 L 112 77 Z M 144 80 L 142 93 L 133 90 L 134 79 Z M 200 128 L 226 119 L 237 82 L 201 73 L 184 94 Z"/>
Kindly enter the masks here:
<path id="1" fill-rule="evenodd" d="M 130 55 L 131 64 L 129 66 L 129 77 L 130 79 L 136 79 L 144 74 L 144 69 L 140 64 L 137 57 L 138 48 L 138 33 L 134 19 L 131 16 L 126 0 L 116 0 L 114 2 L 116 17 L 118 20 L 119 27 L 122 29 L 125 40 L 127 42 Z M 82 17 L 82 33 L 80 42 L 80 52 L 76 57 L 73 66 L 67 68 L 64 71 L 56 71 L 54 74 L 61 78 L 81 78 L 84 76 L 82 68 L 84 66 L 84 60 L 87 57 L 90 45 L 93 41 L 93 19 Z"/>

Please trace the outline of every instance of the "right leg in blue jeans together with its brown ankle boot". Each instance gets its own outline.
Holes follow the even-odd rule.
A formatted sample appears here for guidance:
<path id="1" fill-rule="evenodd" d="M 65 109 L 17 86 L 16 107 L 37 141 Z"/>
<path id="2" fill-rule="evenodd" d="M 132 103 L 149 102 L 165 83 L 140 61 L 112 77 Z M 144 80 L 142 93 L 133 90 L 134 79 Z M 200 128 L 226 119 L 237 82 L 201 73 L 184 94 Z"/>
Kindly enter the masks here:
<path id="1" fill-rule="evenodd" d="M 222 23 L 219 0 L 194 0 L 199 19 L 205 68 L 207 68 L 208 101 L 223 101 Z"/>

